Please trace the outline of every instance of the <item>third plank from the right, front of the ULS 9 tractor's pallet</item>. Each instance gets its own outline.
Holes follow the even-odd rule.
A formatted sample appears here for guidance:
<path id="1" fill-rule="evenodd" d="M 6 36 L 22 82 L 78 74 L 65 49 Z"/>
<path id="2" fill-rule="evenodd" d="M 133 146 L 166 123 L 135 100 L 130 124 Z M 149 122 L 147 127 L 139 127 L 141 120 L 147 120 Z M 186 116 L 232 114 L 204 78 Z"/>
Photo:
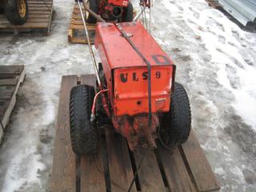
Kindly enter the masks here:
<path id="1" fill-rule="evenodd" d="M 134 152 L 136 166 L 138 166 L 138 162 L 142 159 L 142 155 L 144 154 L 145 151 L 142 150 Z M 141 168 L 138 170 L 138 181 L 142 192 L 166 191 L 166 186 L 162 180 L 162 175 L 153 150 L 147 152 L 146 158 L 144 158 Z"/>

